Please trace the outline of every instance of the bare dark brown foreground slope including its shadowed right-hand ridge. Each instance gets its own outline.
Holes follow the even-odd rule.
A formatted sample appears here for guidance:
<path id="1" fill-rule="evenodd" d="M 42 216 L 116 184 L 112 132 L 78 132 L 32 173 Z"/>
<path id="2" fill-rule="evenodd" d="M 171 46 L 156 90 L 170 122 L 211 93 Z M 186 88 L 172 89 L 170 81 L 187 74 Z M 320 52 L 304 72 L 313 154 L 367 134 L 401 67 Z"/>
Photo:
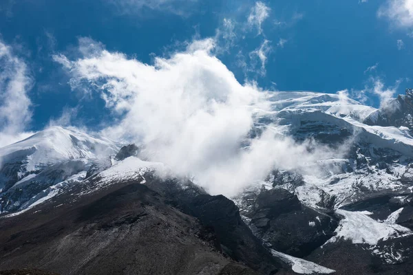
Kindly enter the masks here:
<path id="1" fill-rule="evenodd" d="M 149 186 L 168 186 L 151 174 L 145 178 Z M 39 214 L 29 210 L 1 220 L 0 269 L 41 267 L 58 274 L 274 274 L 282 267 L 242 222 L 234 203 L 223 196 L 171 201 L 129 181 L 62 205 L 75 197 L 78 190 L 43 204 L 36 209 Z M 181 199 L 187 200 L 187 212 L 195 214 L 172 206 Z"/>

